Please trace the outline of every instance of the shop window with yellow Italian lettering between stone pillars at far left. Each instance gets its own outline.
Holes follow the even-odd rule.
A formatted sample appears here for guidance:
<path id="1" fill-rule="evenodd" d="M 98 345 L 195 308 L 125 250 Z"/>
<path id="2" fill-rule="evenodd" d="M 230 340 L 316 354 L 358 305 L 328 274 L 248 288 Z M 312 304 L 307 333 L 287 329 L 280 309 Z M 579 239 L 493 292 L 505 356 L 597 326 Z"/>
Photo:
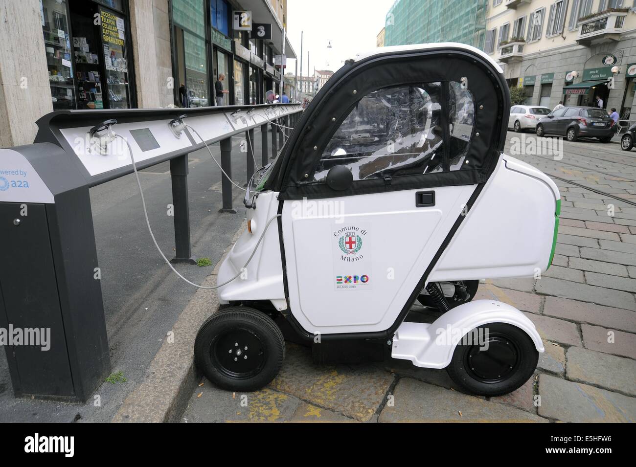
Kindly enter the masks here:
<path id="1" fill-rule="evenodd" d="M 135 107 L 125 0 L 41 0 L 53 109 Z"/>

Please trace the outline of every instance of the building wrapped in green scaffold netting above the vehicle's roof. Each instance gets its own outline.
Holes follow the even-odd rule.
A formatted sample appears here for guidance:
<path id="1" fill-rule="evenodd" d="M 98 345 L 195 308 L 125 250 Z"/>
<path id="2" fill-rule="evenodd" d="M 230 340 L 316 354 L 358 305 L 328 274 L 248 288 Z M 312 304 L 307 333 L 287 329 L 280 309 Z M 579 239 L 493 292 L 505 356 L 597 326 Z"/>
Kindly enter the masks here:
<path id="1" fill-rule="evenodd" d="M 488 0 L 396 0 L 385 20 L 384 45 L 460 42 L 482 48 L 487 6 Z"/>

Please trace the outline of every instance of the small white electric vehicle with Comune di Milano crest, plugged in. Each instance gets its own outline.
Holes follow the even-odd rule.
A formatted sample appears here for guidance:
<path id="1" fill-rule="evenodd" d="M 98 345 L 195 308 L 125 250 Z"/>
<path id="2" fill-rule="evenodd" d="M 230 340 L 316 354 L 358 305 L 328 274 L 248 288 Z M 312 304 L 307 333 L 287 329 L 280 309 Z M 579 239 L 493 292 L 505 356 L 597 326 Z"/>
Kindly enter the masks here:
<path id="1" fill-rule="evenodd" d="M 473 298 L 480 279 L 550 267 L 560 194 L 502 153 L 509 110 L 501 68 L 471 46 L 347 61 L 249 184 L 218 283 L 241 274 L 198 332 L 198 368 L 221 388 L 261 388 L 285 332 L 345 360 L 350 344 L 382 346 L 469 393 L 522 386 L 544 351 L 534 324 Z"/>

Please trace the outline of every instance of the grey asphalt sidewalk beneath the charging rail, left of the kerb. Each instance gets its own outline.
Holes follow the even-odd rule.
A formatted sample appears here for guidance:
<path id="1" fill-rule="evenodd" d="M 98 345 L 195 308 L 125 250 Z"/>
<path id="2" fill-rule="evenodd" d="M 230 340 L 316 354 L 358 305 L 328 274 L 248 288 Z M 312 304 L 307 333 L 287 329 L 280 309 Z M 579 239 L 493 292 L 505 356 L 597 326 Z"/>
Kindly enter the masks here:
<path id="1" fill-rule="evenodd" d="M 271 137 L 270 132 L 270 137 Z M 247 153 L 240 152 L 242 137 L 233 137 L 232 177 L 243 186 Z M 270 140 L 271 141 L 271 140 Z M 271 143 L 270 143 L 271 145 Z M 261 160 L 261 135 L 254 136 L 256 160 Z M 219 145 L 211 147 L 220 162 Z M 271 156 L 271 146 L 268 147 Z M 195 283 L 211 273 L 245 219 L 244 193 L 233 187 L 237 213 L 219 213 L 221 172 L 202 149 L 189 156 L 191 242 L 195 257 L 209 258 L 212 266 L 177 265 L 176 269 Z M 173 218 L 167 215 L 172 203 L 169 163 L 140 172 L 148 215 L 155 237 L 170 259 L 174 256 Z M 85 405 L 21 400 L 13 397 L 4 350 L 0 352 L 0 422 L 15 421 L 110 421 L 124 398 L 141 381 L 166 333 L 195 293 L 192 287 L 164 264 L 146 229 L 134 175 L 127 175 L 90 190 L 93 224 L 111 365 L 122 372 L 125 383 L 105 382 L 95 400 Z"/>

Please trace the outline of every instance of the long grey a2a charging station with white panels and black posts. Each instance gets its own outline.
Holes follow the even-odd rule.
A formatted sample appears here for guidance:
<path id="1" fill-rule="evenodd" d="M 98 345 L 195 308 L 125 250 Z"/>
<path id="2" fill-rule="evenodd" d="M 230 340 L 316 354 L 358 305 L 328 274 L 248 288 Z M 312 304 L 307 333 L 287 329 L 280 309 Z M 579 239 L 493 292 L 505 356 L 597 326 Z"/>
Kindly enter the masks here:
<path id="1" fill-rule="evenodd" d="M 231 177 L 233 135 L 253 137 L 254 128 L 266 132 L 272 121 L 293 126 L 301 111 L 296 104 L 59 111 L 38 120 L 34 144 L 0 149 L 0 327 L 50 332 L 46 350 L 28 342 L 5 346 L 15 395 L 84 402 L 111 370 L 90 187 L 134 172 L 129 150 L 139 170 L 170 161 L 176 240 L 170 262 L 195 262 L 188 154 L 220 141 L 221 166 Z M 267 159 L 264 144 L 263 165 Z M 221 210 L 232 212 L 232 182 L 222 180 Z"/>

